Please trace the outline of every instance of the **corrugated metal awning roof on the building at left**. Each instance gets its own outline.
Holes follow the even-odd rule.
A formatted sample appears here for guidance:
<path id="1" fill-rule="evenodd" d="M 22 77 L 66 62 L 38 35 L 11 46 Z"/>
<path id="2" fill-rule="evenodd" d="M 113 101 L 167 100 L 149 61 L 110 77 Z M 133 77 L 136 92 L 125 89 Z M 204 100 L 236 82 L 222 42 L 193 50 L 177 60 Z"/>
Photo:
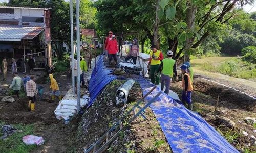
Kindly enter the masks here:
<path id="1" fill-rule="evenodd" d="M 44 27 L 22 25 L 0 25 L 0 41 L 21 41 L 22 39 L 33 39 L 44 29 Z"/>

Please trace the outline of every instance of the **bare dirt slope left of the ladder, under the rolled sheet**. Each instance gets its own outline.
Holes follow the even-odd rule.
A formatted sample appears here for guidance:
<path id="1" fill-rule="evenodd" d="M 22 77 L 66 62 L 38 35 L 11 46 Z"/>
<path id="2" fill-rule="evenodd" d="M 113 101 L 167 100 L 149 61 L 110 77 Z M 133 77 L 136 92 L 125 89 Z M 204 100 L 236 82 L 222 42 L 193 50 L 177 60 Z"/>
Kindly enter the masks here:
<path id="1" fill-rule="evenodd" d="M 117 80 L 111 82 L 99 95 L 94 104 L 83 114 L 82 121 L 79 125 L 79 150 L 82 152 L 83 147 L 88 148 L 95 140 L 100 138 L 113 123 L 118 121 L 120 116 L 123 116 L 126 105 L 116 106 L 115 93 L 116 90 L 125 81 Z M 135 95 L 139 100 L 142 91 L 136 83 L 130 90 L 130 95 Z M 140 95 L 140 96 L 139 96 Z M 129 96 L 127 103 L 130 103 L 131 97 Z"/>

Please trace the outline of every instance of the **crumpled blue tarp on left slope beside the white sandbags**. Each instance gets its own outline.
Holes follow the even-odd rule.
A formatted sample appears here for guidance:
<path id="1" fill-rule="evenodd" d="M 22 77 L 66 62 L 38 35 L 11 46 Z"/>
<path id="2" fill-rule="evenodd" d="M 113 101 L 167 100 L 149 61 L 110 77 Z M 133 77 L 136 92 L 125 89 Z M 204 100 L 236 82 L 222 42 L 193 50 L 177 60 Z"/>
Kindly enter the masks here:
<path id="1" fill-rule="evenodd" d="M 87 105 L 89 108 L 99 93 L 108 85 L 112 80 L 116 79 L 115 75 L 111 74 L 112 71 L 106 69 L 103 62 L 103 56 L 101 55 L 93 69 L 92 77 L 89 82 L 90 101 Z"/>

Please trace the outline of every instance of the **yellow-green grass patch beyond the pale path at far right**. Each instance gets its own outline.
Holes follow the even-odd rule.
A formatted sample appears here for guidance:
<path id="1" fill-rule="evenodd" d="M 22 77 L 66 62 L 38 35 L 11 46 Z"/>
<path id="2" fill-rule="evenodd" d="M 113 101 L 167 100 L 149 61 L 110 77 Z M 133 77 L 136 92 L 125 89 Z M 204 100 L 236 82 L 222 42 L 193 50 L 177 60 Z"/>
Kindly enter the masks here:
<path id="1" fill-rule="evenodd" d="M 201 66 L 202 70 L 217 72 L 231 77 L 243 79 L 256 79 L 256 64 L 248 63 L 241 59 L 230 59 L 219 65 L 206 62 Z"/>

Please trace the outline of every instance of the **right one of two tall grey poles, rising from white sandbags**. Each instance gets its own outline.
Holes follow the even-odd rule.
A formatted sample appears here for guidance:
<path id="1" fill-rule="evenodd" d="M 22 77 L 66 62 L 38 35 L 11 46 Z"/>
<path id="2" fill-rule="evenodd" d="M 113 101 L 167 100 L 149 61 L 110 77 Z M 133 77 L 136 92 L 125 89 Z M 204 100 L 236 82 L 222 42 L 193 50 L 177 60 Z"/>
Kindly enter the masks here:
<path id="1" fill-rule="evenodd" d="M 80 88 L 81 88 L 81 80 L 80 80 L 80 0 L 76 0 L 76 51 L 77 51 L 77 103 L 76 110 L 77 113 L 80 111 Z"/>

